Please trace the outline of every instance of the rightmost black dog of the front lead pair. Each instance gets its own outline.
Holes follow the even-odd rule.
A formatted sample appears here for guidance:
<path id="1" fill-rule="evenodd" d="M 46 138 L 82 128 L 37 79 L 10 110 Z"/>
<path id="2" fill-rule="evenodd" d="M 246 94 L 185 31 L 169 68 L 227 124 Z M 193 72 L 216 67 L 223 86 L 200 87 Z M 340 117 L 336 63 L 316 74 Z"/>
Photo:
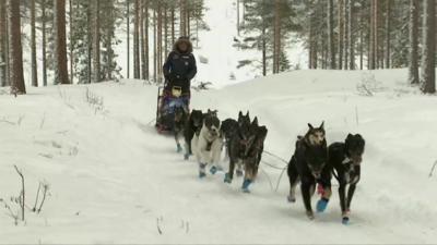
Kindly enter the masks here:
<path id="1" fill-rule="evenodd" d="M 361 162 L 365 140 L 359 134 L 349 134 L 344 143 L 333 143 L 329 146 L 329 167 L 332 168 L 340 187 L 340 206 L 342 210 L 343 223 L 349 222 L 351 201 L 355 193 L 356 184 L 361 177 Z M 346 187 L 349 185 L 347 197 Z"/>

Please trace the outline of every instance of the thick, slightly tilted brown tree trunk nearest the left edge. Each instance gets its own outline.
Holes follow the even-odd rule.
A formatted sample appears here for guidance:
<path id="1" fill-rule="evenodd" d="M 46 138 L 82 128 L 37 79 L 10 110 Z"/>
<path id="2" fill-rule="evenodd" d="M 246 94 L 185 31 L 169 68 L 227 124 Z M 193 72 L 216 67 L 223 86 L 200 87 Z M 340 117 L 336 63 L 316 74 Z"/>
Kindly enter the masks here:
<path id="1" fill-rule="evenodd" d="M 11 91 L 26 94 L 23 76 L 23 49 L 21 44 L 20 1 L 8 0 Z"/>

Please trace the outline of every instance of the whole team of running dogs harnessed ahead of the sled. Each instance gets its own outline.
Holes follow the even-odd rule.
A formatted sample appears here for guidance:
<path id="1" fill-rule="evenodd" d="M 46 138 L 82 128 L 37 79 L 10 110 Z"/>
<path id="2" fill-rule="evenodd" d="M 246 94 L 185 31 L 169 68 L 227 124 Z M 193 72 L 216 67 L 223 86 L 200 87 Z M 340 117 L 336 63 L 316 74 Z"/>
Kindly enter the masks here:
<path id="1" fill-rule="evenodd" d="M 342 222 L 350 221 L 351 203 L 361 177 L 361 163 L 365 149 L 365 140 L 359 134 L 349 134 L 342 143 L 333 143 L 328 147 L 324 123 L 319 127 L 308 124 L 305 136 L 298 136 L 295 151 L 287 167 L 290 180 L 288 201 L 296 201 L 296 186 L 300 182 L 300 193 L 307 217 L 315 218 L 311 196 L 320 194 L 316 209 L 323 212 L 331 197 L 331 179 L 339 182 L 340 207 Z M 200 110 L 175 111 L 174 136 L 178 152 L 182 151 L 179 138 L 185 138 L 185 160 L 193 155 L 199 163 L 199 177 L 206 176 L 206 168 L 211 174 L 222 170 L 220 159 L 225 149 L 229 161 L 224 182 L 232 183 L 234 174 L 243 177 L 241 189 L 249 193 L 249 186 L 257 177 L 268 128 L 259 125 L 258 119 L 250 119 L 249 112 L 241 111 L 238 119 L 218 120 L 217 111 Z"/>

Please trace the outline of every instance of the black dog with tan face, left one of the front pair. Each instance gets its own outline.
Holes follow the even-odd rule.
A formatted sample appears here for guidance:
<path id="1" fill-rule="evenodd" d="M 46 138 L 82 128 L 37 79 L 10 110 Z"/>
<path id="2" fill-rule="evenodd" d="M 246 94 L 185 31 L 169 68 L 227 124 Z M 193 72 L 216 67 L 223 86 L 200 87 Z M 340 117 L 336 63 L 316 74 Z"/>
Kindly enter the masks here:
<path id="1" fill-rule="evenodd" d="M 306 213 L 309 219 L 314 219 L 311 208 L 311 195 L 316 189 L 316 182 L 329 179 L 328 147 L 324 138 L 326 132 L 323 123 L 319 127 L 308 124 L 308 133 L 296 142 L 296 149 L 288 163 L 290 196 L 288 200 L 296 201 L 295 188 L 300 180 L 302 196 Z"/>

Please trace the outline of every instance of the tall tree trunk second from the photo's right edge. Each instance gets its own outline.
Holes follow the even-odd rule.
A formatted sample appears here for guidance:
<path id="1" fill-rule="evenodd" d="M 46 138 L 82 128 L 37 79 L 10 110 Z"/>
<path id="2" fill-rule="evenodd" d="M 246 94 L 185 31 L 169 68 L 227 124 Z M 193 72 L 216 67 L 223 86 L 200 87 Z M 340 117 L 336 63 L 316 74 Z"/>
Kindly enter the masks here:
<path id="1" fill-rule="evenodd" d="M 410 84 L 418 84 L 418 5 L 420 0 L 410 0 Z"/>

